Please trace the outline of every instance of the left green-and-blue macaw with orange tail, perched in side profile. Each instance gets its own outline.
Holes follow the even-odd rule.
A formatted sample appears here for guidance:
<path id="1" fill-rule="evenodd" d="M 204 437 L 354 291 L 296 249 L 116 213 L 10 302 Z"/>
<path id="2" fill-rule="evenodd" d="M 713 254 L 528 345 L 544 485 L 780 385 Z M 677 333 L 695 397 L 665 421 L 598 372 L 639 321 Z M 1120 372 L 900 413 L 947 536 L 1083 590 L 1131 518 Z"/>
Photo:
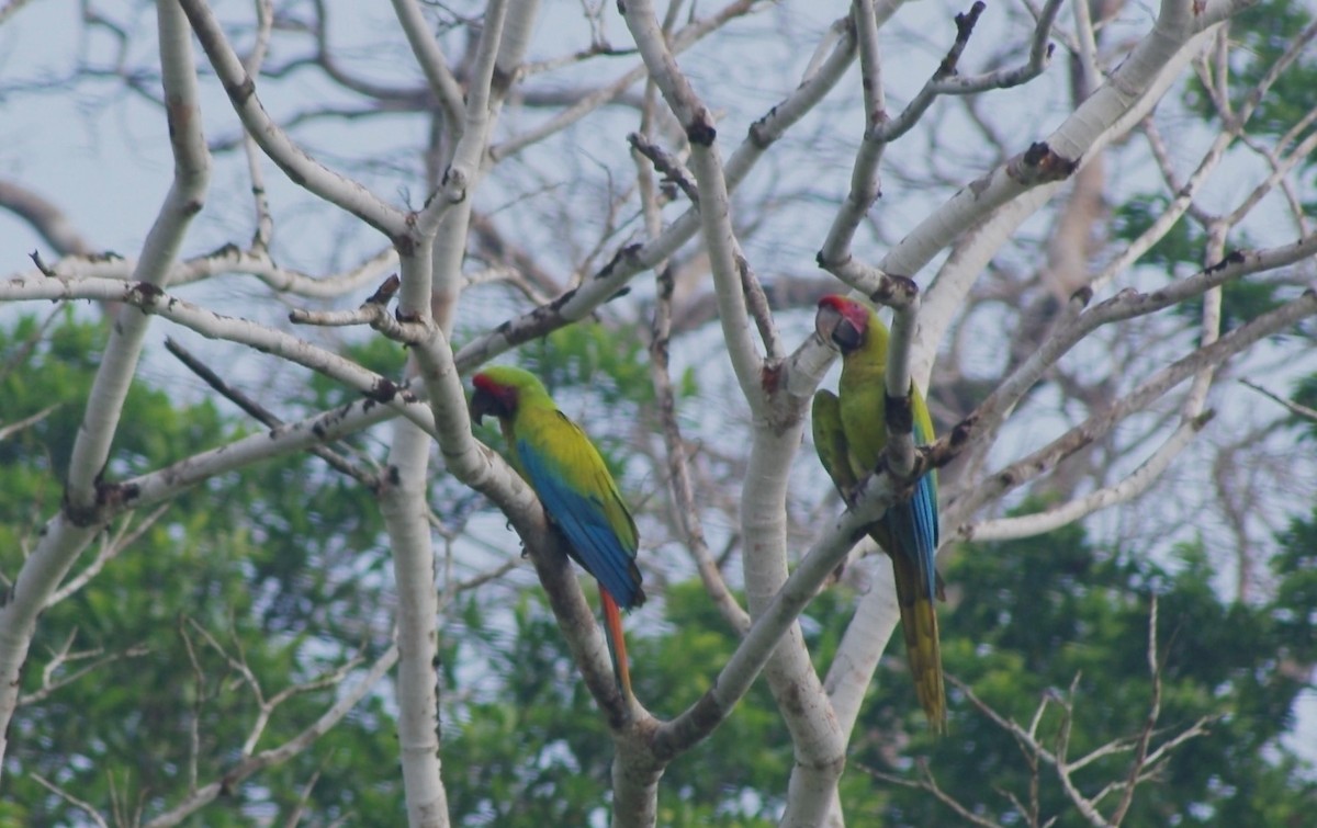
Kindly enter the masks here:
<path id="1" fill-rule="evenodd" d="M 544 512 L 568 540 L 568 552 L 599 582 L 605 636 L 618 686 L 631 695 L 622 609 L 645 603 L 636 567 L 639 536 L 618 484 L 581 427 L 558 411 L 544 384 L 510 366 L 474 378 L 471 417 L 498 417 L 512 465 L 539 495 Z"/>

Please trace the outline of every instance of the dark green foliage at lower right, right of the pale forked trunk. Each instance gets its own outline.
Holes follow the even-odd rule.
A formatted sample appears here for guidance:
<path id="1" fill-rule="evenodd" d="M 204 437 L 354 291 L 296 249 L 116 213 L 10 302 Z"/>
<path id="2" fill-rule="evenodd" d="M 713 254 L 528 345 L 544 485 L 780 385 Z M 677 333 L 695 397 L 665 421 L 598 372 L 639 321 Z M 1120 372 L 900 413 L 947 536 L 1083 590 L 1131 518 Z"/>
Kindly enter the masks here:
<path id="1" fill-rule="evenodd" d="M 1287 556 L 1301 553 L 1312 566 L 1314 532 L 1296 524 Z M 1217 717 L 1205 737 L 1179 746 L 1134 796 L 1126 825 L 1284 824 L 1317 786 L 1281 742 L 1304 683 L 1277 670 L 1281 658 L 1310 654 L 1313 600 L 1303 578 L 1285 578 L 1275 603 L 1222 602 L 1212 587 L 1214 571 L 1198 546 L 1180 550 L 1177 565 L 1162 569 L 1142 556 L 1092 548 L 1069 527 L 1044 537 L 965 545 L 947 566 L 952 607 L 940 616 L 948 674 L 1002 716 L 1027 727 L 1044 698 L 1052 699 L 1039 725 L 1048 749 L 1063 724 L 1059 700 L 1072 704 L 1068 757 L 1085 756 L 1118 738 L 1138 736 L 1152 699 L 1147 667 L 1151 596 L 1159 602 L 1158 650 L 1162 700 L 1152 746 L 1201 717 Z M 1285 563 L 1281 563 L 1285 565 Z M 1295 563 L 1288 563 L 1297 569 Z M 963 584 L 963 586 L 961 586 Z M 1317 590 L 1317 588 L 1314 588 Z M 1288 609 L 1283 609 L 1288 607 Z M 1277 615 L 1279 612 L 1279 615 Z M 1284 621 L 1284 623 L 1283 623 Z M 1287 627 L 1288 624 L 1288 627 Z M 1304 656 L 1300 656 L 1303 653 Z M 1310 661 L 1301 661 L 1310 663 Z M 1027 757 L 1015 740 L 951 690 L 951 735 L 935 740 L 917 721 L 903 665 L 888 660 L 878 698 L 860 727 L 913 733 L 914 753 L 926 754 L 939 786 L 977 814 L 1021 821 L 1008 794 L 1030 802 Z M 1071 694 L 1073 687 L 1073 694 Z M 893 690 L 894 688 L 894 690 Z M 897 713 L 896 711 L 901 711 Z M 888 741 L 857 745 L 853 762 L 885 773 L 893 765 Z M 1129 752 L 1100 758 L 1076 773 L 1080 790 L 1093 795 L 1129 773 Z M 1105 812 L 1117 796 L 1104 800 Z M 1042 820 L 1056 825 L 1087 821 L 1069 804 L 1047 765 L 1038 785 Z M 926 792 L 894 789 L 884 824 L 930 825 L 952 814 Z"/>

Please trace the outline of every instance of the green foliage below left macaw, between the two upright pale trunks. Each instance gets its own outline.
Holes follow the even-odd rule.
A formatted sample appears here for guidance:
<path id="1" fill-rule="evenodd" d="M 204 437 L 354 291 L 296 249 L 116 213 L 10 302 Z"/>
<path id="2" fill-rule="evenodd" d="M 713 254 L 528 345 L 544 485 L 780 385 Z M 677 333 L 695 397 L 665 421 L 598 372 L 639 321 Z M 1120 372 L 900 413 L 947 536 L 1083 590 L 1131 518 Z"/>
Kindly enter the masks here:
<path id="1" fill-rule="evenodd" d="M 593 592 L 593 590 L 591 590 Z M 831 599 L 824 603 L 830 604 Z M 735 649 L 698 582 L 664 591 L 662 627 L 628 623 L 636 695 L 657 715 L 693 704 Z M 645 613 L 652 611 L 645 608 Z M 486 612 L 462 613 L 464 641 L 481 642 L 499 686 L 453 687 L 446 698 L 444 767 L 454 824 L 583 825 L 606 804 L 612 744 L 536 590 L 514 612 L 511 637 Z M 807 624 L 811 648 L 828 652 L 823 627 Z M 712 737 L 664 774 L 662 825 L 764 828 L 777 824 L 793 765 L 790 740 L 763 683 Z"/>

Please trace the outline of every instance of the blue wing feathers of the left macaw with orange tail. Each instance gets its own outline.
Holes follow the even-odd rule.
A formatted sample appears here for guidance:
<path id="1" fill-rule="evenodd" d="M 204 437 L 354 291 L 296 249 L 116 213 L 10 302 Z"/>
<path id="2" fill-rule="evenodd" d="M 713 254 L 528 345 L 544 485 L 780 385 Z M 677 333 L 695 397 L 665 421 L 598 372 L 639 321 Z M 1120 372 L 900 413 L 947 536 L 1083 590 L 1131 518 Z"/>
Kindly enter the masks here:
<path id="1" fill-rule="evenodd" d="M 544 504 L 544 509 L 562 529 L 577 559 L 612 595 L 623 609 L 636 606 L 640 594 L 635 550 L 627 549 L 608 524 L 603 500 L 598 495 L 572 488 L 558 463 L 527 440 L 518 440 L 522 466 Z"/>

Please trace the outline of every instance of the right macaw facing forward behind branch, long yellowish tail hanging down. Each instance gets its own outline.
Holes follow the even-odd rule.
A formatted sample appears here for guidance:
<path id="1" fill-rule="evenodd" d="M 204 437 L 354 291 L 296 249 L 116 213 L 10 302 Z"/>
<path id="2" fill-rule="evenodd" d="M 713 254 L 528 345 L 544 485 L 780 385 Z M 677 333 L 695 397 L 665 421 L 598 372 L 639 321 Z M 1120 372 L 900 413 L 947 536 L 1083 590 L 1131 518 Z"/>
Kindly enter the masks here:
<path id="1" fill-rule="evenodd" d="M 840 395 L 814 395 L 814 445 L 828 477 L 843 498 L 872 474 L 888 444 L 886 359 L 888 329 L 871 308 L 842 296 L 819 300 L 815 329 L 842 351 Z M 932 420 L 919 390 L 911 384 L 914 442 L 932 440 Z M 892 505 L 869 537 L 892 558 L 901 606 L 910 674 L 919 704 L 934 731 L 947 727 L 947 696 L 942 685 L 938 615 L 934 599 L 942 584 L 932 565 L 938 552 L 938 478 L 928 471 L 915 483 L 914 495 Z"/>

